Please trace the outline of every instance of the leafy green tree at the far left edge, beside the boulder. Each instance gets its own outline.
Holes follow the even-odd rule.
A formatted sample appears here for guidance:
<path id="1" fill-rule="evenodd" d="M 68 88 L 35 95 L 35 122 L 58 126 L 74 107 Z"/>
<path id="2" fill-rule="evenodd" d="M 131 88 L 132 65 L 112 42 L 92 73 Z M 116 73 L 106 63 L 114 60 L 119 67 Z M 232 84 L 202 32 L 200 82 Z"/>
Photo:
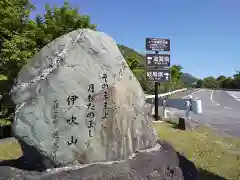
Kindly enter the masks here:
<path id="1" fill-rule="evenodd" d="M 36 52 L 36 43 L 31 39 L 34 34 L 29 28 L 32 9 L 34 6 L 28 0 L 2 0 L 0 3 L 0 74 L 10 81 Z"/>

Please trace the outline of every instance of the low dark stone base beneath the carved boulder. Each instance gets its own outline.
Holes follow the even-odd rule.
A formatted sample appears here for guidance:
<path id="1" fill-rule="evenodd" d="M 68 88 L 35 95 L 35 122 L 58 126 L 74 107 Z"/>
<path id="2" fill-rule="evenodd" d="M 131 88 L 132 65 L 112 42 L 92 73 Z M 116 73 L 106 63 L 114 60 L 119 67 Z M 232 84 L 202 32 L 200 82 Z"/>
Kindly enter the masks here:
<path id="1" fill-rule="evenodd" d="M 0 166 L 0 179 L 14 180 L 195 180 L 197 169 L 184 156 L 176 152 L 170 144 L 158 140 L 156 147 L 141 150 L 126 160 L 98 162 L 48 169 L 44 172 L 20 170 Z"/>

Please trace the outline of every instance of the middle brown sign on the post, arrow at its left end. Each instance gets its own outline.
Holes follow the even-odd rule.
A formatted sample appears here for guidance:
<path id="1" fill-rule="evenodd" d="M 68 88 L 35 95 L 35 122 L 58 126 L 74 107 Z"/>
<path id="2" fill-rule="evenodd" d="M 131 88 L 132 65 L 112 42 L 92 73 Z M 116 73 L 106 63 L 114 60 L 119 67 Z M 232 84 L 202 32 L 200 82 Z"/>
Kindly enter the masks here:
<path id="1" fill-rule="evenodd" d="M 169 67 L 170 55 L 168 54 L 146 54 L 146 66 Z"/>

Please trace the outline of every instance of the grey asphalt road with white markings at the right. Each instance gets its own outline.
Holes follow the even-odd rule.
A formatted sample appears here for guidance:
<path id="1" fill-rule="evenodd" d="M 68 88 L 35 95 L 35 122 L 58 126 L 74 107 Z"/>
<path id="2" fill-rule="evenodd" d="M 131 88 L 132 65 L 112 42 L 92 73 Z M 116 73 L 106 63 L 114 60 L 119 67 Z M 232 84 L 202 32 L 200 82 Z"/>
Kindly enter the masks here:
<path id="1" fill-rule="evenodd" d="M 191 113 L 192 119 L 240 137 L 240 92 L 201 89 L 191 95 L 202 100 L 202 114 Z"/>

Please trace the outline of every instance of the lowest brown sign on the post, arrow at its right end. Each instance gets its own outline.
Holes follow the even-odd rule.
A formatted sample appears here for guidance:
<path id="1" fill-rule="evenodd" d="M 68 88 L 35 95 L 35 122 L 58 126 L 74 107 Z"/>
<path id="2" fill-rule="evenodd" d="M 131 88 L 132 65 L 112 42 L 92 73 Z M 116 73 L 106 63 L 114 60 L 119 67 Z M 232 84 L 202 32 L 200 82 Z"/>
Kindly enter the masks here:
<path id="1" fill-rule="evenodd" d="M 170 82 L 171 81 L 170 68 L 146 69 L 146 80 L 155 82 Z"/>

